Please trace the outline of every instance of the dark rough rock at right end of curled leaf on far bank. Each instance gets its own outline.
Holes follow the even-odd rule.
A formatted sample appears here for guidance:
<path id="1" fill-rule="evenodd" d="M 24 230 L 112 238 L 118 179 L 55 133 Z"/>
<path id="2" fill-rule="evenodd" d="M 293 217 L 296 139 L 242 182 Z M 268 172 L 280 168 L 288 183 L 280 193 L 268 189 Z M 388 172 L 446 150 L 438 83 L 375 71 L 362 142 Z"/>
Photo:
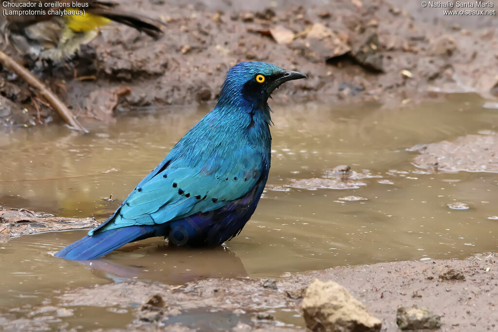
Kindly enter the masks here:
<path id="1" fill-rule="evenodd" d="M 351 56 L 363 68 L 383 73 L 383 55 L 379 52 L 377 33 L 373 29 L 367 29 L 353 40 Z"/>

